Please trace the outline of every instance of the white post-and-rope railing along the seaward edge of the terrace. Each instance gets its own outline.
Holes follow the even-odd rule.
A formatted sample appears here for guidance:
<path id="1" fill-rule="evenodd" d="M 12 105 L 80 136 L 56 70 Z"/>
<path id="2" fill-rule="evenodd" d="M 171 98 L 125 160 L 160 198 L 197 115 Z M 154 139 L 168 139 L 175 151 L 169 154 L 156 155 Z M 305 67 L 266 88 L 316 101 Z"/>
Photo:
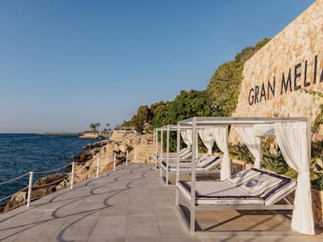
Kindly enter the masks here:
<path id="1" fill-rule="evenodd" d="M 135 149 L 135 154 L 136 154 L 136 149 Z M 122 161 L 125 161 L 126 166 L 128 164 L 128 160 L 129 160 L 128 159 L 128 156 L 129 156 L 129 152 L 127 151 L 126 152 L 126 159 L 125 160 L 122 160 Z M 106 158 L 106 157 L 103 157 L 103 158 Z M 136 159 L 136 155 L 135 155 L 135 159 Z M 78 173 L 75 172 L 75 165 L 85 165 L 87 163 L 92 163 L 92 162 L 95 162 L 95 160 L 89 160 L 89 161 L 86 161 L 84 163 L 71 162 L 69 164 L 66 164 L 64 167 L 57 168 L 57 169 L 49 169 L 49 170 L 37 171 L 37 172 L 30 171 L 30 172 L 27 172 L 25 174 L 22 174 L 22 176 L 14 177 L 14 178 L 12 178 L 10 180 L 1 182 L 0 183 L 0 186 L 4 186 L 4 185 L 11 184 L 13 182 L 16 182 L 19 179 L 26 178 L 26 177 L 29 176 L 28 186 L 22 187 L 22 189 L 14 192 L 13 194 L 5 194 L 5 196 L 3 198 L 0 198 L 0 204 L 4 205 L 5 203 L 8 203 L 9 200 L 10 200 L 10 198 L 13 197 L 14 194 L 18 194 L 20 192 L 26 191 L 27 192 L 27 200 L 26 201 L 23 201 L 22 203 L 17 204 L 16 206 L 14 206 L 14 207 L 12 207 L 10 209 L 14 209 L 16 207 L 22 206 L 24 203 L 26 203 L 27 207 L 30 207 L 32 201 L 37 200 L 37 199 L 39 199 L 42 196 L 42 195 L 39 195 L 39 196 L 36 196 L 36 197 L 32 197 L 31 194 L 32 194 L 32 191 L 33 190 L 35 190 L 37 188 L 41 188 L 41 187 L 46 187 L 46 186 L 58 185 L 60 182 L 62 182 L 63 180 L 67 179 L 70 176 L 71 176 L 71 179 L 70 179 L 70 189 L 73 189 L 74 188 L 75 175 L 81 174 L 81 172 L 78 172 Z M 96 172 L 95 172 L 95 177 L 96 178 L 99 178 L 100 167 L 104 167 L 106 165 L 107 164 L 100 165 L 100 156 L 98 156 L 97 159 L 96 159 Z M 114 156 L 113 156 L 113 171 L 116 170 L 116 166 L 117 166 L 117 154 L 114 153 Z M 66 169 L 68 169 L 68 172 L 66 172 Z M 63 172 L 57 173 L 57 171 L 60 171 L 60 170 L 62 170 Z M 70 174 L 69 174 L 69 171 L 70 171 Z M 59 179 L 57 179 L 57 180 L 55 180 L 53 182 L 46 183 L 44 185 L 36 185 L 36 186 L 34 185 L 33 186 L 33 180 L 34 180 L 34 177 L 35 177 L 34 175 L 36 175 L 37 177 L 39 177 L 38 180 L 40 178 L 48 177 L 49 176 L 48 175 L 48 176 L 40 177 L 40 175 L 42 175 L 42 174 L 50 174 L 50 175 L 60 174 L 60 175 L 62 175 L 62 177 L 60 177 Z"/>

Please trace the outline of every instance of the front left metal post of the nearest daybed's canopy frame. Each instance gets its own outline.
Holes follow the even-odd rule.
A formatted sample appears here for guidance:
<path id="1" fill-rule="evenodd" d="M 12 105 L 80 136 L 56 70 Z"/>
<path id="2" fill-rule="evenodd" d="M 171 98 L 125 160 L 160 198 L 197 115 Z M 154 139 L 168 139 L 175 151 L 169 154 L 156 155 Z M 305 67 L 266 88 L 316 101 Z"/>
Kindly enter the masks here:
<path id="1" fill-rule="evenodd" d="M 192 127 L 192 173 L 191 173 L 191 201 L 190 201 L 190 222 L 189 232 L 190 235 L 195 235 L 195 220 L 196 220 L 196 152 L 197 152 L 197 129 L 196 117 L 193 117 Z"/>

